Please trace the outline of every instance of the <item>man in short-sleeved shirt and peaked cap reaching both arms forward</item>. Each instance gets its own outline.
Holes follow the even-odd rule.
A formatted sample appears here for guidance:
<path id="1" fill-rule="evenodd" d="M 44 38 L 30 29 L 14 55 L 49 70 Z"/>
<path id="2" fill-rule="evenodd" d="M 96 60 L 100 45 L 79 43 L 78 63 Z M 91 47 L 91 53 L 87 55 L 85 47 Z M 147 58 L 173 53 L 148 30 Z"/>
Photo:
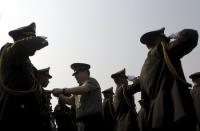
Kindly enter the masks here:
<path id="1" fill-rule="evenodd" d="M 75 105 L 76 118 L 84 124 L 85 131 L 102 131 L 101 88 L 96 79 L 90 77 L 90 65 L 74 63 L 71 65 L 79 86 L 54 89 L 53 94 L 63 99 L 66 104 Z M 73 94 L 72 97 L 66 95 Z"/>

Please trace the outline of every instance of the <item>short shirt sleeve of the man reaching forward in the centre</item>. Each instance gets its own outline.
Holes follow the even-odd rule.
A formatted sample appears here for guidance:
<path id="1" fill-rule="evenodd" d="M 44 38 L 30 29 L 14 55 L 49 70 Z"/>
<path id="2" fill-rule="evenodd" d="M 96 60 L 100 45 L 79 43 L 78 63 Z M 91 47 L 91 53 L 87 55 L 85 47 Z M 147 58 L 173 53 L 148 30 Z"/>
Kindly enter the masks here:
<path id="1" fill-rule="evenodd" d="M 86 86 L 89 88 L 89 92 L 93 91 L 93 90 L 98 90 L 100 89 L 100 86 L 98 84 L 98 82 L 95 79 L 89 79 L 87 80 L 83 86 Z"/>

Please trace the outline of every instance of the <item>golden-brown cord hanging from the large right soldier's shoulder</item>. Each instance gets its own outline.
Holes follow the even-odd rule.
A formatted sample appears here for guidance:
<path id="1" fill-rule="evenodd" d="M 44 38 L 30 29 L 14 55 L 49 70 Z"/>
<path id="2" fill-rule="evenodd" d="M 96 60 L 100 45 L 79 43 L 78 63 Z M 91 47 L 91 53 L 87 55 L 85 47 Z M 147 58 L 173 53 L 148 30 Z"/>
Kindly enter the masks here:
<path id="1" fill-rule="evenodd" d="M 180 80 L 182 83 L 186 84 L 187 86 L 191 87 L 191 84 L 186 82 L 183 78 L 181 78 L 181 76 L 176 72 L 174 66 L 172 65 L 171 61 L 170 61 L 170 58 L 169 58 L 169 55 L 167 53 L 167 49 L 166 49 L 166 44 L 161 41 L 161 45 L 162 45 L 162 49 L 163 49 L 163 54 L 164 54 L 164 60 L 165 60 L 165 63 L 167 64 L 167 67 L 168 69 L 170 70 L 170 72 L 172 73 L 172 75 Z"/>

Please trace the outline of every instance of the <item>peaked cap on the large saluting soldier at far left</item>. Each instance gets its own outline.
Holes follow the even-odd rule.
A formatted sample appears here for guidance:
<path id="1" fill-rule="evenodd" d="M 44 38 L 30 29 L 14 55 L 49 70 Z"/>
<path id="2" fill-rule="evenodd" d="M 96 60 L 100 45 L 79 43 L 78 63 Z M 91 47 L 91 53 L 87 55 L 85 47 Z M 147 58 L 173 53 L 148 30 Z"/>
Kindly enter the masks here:
<path id="1" fill-rule="evenodd" d="M 35 23 L 31 23 L 28 26 L 20 27 L 15 30 L 10 31 L 8 34 L 13 38 L 14 41 L 21 40 L 27 37 L 35 37 Z"/>

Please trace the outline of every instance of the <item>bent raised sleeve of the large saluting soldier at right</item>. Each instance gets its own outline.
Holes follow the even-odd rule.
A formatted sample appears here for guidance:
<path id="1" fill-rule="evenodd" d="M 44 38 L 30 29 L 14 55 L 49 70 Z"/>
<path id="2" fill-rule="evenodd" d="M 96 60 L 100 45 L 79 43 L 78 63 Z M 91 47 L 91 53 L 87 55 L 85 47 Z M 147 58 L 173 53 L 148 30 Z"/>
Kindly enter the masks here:
<path id="1" fill-rule="evenodd" d="M 176 40 L 169 43 L 168 49 L 172 56 L 182 58 L 197 46 L 197 42 L 197 31 L 193 29 L 184 29 L 179 32 L 179 36 Z"/>

